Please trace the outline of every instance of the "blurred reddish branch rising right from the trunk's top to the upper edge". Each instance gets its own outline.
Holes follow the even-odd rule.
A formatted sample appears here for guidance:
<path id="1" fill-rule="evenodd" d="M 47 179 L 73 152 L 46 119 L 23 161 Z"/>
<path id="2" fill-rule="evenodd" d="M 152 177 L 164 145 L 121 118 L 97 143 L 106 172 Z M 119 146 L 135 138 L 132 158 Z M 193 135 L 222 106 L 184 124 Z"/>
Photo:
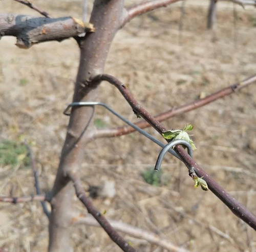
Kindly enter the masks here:
<path id="1" fill-rule="evenodd" d="M 122 21 L 122 27 L 125 23 L 131 21 L 134 17 L 138 15 L 153 11 L 155 9 L 159 9 L 161 7 L 166 7 L 167 5 L 176 3 L 178 1 L 182 0 L 151 0 L 135 6 L 131 6 L 126 9 L 126 15 Z"/>

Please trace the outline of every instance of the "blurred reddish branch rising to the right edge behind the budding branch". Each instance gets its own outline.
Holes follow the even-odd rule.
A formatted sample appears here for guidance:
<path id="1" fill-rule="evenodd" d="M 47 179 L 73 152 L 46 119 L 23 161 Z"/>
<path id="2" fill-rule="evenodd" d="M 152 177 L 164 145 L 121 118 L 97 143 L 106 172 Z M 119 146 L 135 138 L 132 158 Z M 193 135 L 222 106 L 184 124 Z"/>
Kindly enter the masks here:
<path id="1" fill-rule="evenodd" d="M 233 92 L 239 91 L 240 89 L 245 88 L 248 85 L 253 83 L 256 83 L 256 74 L 243 80 L 242 82 L 234 83 L 231 86 L 223 88 L 215 93 L 212 93 L 206 96 L 205 98 L 198 99 L 198 100 L 195 100 L 194 102 L 182 105 L 180 107 L 167 110 L 159 115 L 156 115 L 155 118 L 160 122 L 164 121 L 170 117 L 173 117 L 173 116 L 200 108 L 206 104 L 212 103 L 219 98 L 232 94 Z M 144 120 L 136 122 L 135 125 L 137 125 L 141 129 L 144 129 L 150 126 L 150 124 Z M 134 131 L 135 129 L 130 126 L 118 127 L 114 129 L 103 129 L 103 130 L 95 131 L 92 138 L 117 137 L 117 136 L 122 136 L 122 135 L 132 133 Z"/>

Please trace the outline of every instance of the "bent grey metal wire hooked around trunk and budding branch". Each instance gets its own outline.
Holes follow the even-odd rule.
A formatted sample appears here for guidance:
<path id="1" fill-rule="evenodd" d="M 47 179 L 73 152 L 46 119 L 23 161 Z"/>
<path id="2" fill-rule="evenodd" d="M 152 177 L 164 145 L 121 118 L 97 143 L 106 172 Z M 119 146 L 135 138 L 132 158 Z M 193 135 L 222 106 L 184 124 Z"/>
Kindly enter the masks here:
<path id="1" fill-rule="evenodd" d="M 172 142 L 167 143 L 166 145 L 163 144 L 162 142 L 160 142 L 159 140 L 157 140 L 156 138 L 154 138 L 153 136 L 151 136 L 150 134 L 148 134 L 147 132 L 141 130 L 138 126 L 136 126 L 134 123 L 132 123 L 131 121 L 127 120 L 126 118 L 124 118 L 123 116 L 121 116 L 120 114 L 118 114 L 115 110 L 113 110 L 109 105 L 105 104 L 105 103 L 101 103 L 101 102 L 73 102 L 71 104 L 68 105 L 68 107 L 65 109 L 65 111 L 63 112 L 63 114 L 65 115 L 70 115 L 68 113 L 68 110 L 71 107 L 75 107 L 75 106 L 102 106 L 105 109 L 109 110 L 112 114 L 114 114 L 115 116 L 117 116 L 119 119 L 121 119 L 122 121 L 124 121 L 126 124 L 128 124 L 129 126 L 133 127 L 136 131 L 138 131 L 140 134 L 144 135 L 145 137 L 147 137 L 148 139 L 150 139 L 151 141 L 153 141 L 154 143 L 158 144 L 159 146 L 161 146 L 163 149 L 161 150 L 159 156 L 158 156 L 158 163 L 159 163 L 159 168 L 161 166 L 162 160 L 164 155 L 166 154 L 166 152 L 169 152 L 170 154 L 174 155 L 176 158 L 180 159 L 180 157 L 176 154 L 176 152 L 172 149 L 173 146 L 177 145 L 177 144 L 181 144 L 187 147 L 188 149 L 188 154 L 192 157 L 193 154 L 193 150 L 190 146 L 190 144 L 188 142 L 186 142 L 185 140 L 175 140 Z M 174 143 L 175 144 L 171 144 Z M 161 155 L 161 156 L 160 156 Z M 160 159 L 159 159 L 160 157 Z M 156 170 L 156 168 L 155 168 Z M 159 170 L 159 169 L 158 169 Z"/>

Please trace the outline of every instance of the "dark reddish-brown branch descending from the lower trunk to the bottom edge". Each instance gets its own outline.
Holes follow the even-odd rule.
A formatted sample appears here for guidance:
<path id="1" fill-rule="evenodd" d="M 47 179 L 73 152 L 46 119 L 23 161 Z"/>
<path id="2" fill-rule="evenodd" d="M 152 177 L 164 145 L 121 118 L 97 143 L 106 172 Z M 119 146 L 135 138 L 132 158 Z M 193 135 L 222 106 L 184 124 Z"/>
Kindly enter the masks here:
<path id="1" fill-rule="evenodd" d="M 93 217 L 102 226 L 109 237 L 125 252 L 136 252 L 136 249 L 129 245 L 112 227 L 108 220 L 101 214 L 92 204 L 92 201 L 86 196 L 86 192 L 83 190 L 81 181 L 77 173 L 69 174 L 70 179 L 74 183 L 76 190 L 76 195 L 82 202 L 82 204 L 87 208 L 88 212 L 93 215 Z"/>

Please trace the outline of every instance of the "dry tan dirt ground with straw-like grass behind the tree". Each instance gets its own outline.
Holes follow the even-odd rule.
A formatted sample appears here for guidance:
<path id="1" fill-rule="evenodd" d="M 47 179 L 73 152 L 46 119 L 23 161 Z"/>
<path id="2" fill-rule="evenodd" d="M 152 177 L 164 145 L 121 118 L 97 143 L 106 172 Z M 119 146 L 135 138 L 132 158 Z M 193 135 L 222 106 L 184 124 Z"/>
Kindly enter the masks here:
<path id="1" fill-rule="evenodd" d="M 82 15 L 82 1 L 34 1 L 53 16 Z M 126 1 L 129 2 L 130 1 Z M 132 2 L 132 1 L 131 1 Z M 127 3 L 127 4 L 129 4 Z M 152 114 L 183 105 L 209 94 L 256 69 L 256 12 L 220 3 L 218 25 L 206 30 L 207 1 L 187 1 L 179 32 L 180 6 L 175 4 L 142 15 L 115 37 L 105 72 L 129 84 L 137 100 Z M 89 4 L 89 13 L 92 4 Z M 2 12 L 37 15 L 8 0 Z M 52 188 L 71 102 L 79 50 L 73 39 L 49 42 L 29 50 L 15 39 L 0 40 L 0 141 L 32 145 L 42 190 Z M 126 118 L 136 116 L 114 87 L 103 83 L 98 100 Z M 256 214 L 256 85 L 215 103 L 164 122 L 166 128 L 194 125 L 195 160 L 233 197 Z M 95 126 L 123 125 L 97 108 Z M 158 134 L 148 129 L 155 137 Z M 210 191 L 193 187 L 186 167 L 166 155 L 160 186 L 147 184 L 142 173 L 154 167 L 160 147 L 132 133 L 97 139 L 84 150 L 81 177 L 84 188 L 114 181 L 113 198 L 93 199 L 109 219 L 154 232 L 190 251 L 255 251 L 255 232 L 234 216 Z M 0 194 L 34 194 L 31 169 L 17 163 L 0 164 Z M 77 202 L 77 210 L 87 211 Z M 166 251 L 131 236 L 139 251 Z M 103 230 L 73 228 L 75 251 L 120 251 Z M 0 204 L 0 247 L 7 251 L 46 251 L 48 220 L 39 203 Z"/>

